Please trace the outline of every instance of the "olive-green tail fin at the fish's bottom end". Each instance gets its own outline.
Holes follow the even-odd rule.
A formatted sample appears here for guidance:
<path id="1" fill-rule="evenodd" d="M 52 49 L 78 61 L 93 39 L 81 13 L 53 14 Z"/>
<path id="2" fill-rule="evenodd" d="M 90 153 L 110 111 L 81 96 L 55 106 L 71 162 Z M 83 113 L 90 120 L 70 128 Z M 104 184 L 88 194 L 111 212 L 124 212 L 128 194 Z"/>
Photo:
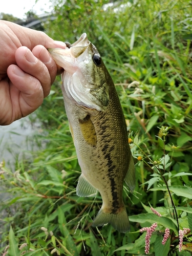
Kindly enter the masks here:
<path id="1" fill-rule="evenodd" d="M 130 231 L 130 222 L 126 213 L 125 206 L 118 214 L 110 214 L 109 212 L 104 212 L 101 207 L 97 216 L 93 220 L 92 226 L 102 226 L 106 223 L 111 223 L 112 227 L 117 229 L 119 232 L 125 233 Z"/>

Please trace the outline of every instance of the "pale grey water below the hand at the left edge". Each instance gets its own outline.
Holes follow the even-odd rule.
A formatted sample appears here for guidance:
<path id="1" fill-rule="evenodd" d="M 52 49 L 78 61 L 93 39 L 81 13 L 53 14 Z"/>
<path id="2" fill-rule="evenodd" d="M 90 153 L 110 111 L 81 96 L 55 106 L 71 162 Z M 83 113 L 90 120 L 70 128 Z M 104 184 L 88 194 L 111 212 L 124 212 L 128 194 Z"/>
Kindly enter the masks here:
<path id="1" fill-rule="evenodd" d="M 0 126 L 0 163 L 5 161 L 5 166 L 15 172 L 15 162 L 17 160 L 30 159 L 32 157 L 30 151 L 38 150 L 39 147 L 34 141 L 34 134 L 40 132 L 42 132 L 40 123 L 35 121 L 32 124 L 29 117 L 19 119 L 10 125 Z M 1 192 L 1 190 L 4 190 L 4 187 L 0 187 L 0 206 L 5 204 L 11 196 L 4 191 Z M 12 215 L 14 210 L 14 207 L 9 207 Z M 2 220 L 7 216 L 9 216 L 9 212 L 0 209 L 0 240 L 2 239 L 1 230 L 5 223 Z"/>

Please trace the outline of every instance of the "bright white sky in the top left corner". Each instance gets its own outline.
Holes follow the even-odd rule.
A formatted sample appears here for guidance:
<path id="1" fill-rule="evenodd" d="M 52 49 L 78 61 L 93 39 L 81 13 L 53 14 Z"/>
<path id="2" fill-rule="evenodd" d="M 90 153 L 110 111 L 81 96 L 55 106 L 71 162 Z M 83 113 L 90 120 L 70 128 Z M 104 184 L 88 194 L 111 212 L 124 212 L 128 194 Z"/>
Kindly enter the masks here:
<path id="1" fill-rule="evenodd" d="M 49 0 L 38 0 L 35 4 L 35 0 L 6 0 L 1 4 L 0 12 L 12 14 L 13 16 L 24 19 L 25 13 L 29 10 L 36 11 L 36 14 L 42 14 L 45 11 L 50 12 L 51 4 Z"/>

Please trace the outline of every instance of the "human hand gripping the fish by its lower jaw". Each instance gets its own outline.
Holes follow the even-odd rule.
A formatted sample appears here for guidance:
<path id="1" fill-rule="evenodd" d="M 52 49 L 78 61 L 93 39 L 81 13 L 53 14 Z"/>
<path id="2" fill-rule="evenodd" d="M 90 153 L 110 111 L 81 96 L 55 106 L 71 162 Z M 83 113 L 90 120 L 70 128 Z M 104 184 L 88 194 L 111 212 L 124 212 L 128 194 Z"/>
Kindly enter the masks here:
<path id="1" fill-rule="evenodd" d="M 0 20 L 0 125 L 35 111 L 62 69 L 46 48 L 65 44 L 44 32 Z"/>

